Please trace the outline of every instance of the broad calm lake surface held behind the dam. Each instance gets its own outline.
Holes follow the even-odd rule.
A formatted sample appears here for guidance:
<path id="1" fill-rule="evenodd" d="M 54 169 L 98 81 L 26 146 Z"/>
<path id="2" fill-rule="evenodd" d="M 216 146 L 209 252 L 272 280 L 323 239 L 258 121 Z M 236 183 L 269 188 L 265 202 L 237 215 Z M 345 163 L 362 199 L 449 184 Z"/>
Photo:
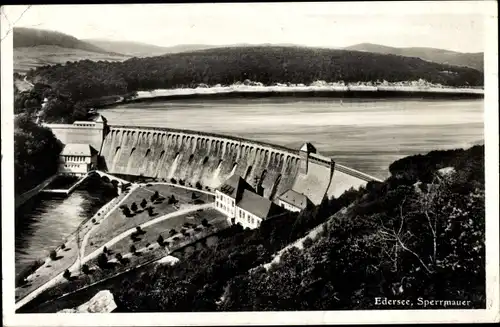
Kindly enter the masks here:
<path id="1" fill-rule="evenodd" d="M 385 178 L 404 156 L 483 143 L 483 105 L 482 99 L 193 99 L 101 113 L 111 125 L 192 129 L 290 148 L 309 141 L 338 163 Z"/>

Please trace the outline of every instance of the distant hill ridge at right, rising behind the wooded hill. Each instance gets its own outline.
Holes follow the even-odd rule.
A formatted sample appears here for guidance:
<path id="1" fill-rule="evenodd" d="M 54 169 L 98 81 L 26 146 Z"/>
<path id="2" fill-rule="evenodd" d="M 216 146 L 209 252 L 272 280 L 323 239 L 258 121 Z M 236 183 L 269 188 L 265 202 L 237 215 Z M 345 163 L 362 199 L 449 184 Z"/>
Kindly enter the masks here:
<path id="1" fill-rule="evenodd" d="M 396 48 L 373 43 L 360 43 L 345 48 L 346 50 L 393 54 L 405 57 L 417 57 L 427 61 L 454 66 L 470 67 L 484 71 L 484 53 L 462 53 L 451 50 L 412 47 Z"/>

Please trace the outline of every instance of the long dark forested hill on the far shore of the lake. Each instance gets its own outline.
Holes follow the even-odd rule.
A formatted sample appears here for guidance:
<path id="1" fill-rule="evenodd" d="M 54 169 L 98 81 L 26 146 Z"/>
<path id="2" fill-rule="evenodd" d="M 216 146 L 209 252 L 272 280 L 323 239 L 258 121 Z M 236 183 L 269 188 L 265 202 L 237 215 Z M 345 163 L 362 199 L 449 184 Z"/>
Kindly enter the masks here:
<path id="1" fill-rule="evenodd" d="M 419 58 L 283 46 L 217 48 L 124 62 L 82 60 L 38 67 L 27 76 L 69 94 L 74 101 L 201 83 L 231 85 L 246 79 L 264 85 L 424 79 L 449 86 L 481 86 L 484 78 L 483 73 L 472 68 Z"/>

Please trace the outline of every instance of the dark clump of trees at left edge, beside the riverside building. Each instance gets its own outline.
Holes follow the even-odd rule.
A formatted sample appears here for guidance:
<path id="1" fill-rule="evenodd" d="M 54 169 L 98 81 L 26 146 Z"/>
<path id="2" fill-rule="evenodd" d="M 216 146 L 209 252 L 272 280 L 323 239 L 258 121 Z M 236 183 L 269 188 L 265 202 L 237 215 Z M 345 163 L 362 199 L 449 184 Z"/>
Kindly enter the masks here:
<path id="1" fill-rule="evenodd" d="M 21 194 L 57 172 L 62 145 L 28 114 L 17 116 L 14 124 L 15 193 Z"/>

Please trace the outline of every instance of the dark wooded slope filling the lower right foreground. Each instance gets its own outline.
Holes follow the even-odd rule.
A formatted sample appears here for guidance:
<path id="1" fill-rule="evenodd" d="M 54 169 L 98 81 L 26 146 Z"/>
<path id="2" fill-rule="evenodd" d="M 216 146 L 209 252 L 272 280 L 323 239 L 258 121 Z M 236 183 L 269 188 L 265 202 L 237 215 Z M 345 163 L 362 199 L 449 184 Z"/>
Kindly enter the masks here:
<path id="1" fill-rule="evenodd" d="M 216 249 L 128 276 L 115 299 L 121 311 L 147 312 L 379 309 L 375 297 L 484 308 L 483 167 L 484 146 L 398 160 L 383 183 L 256 230 L 232 226 Z M 303 249 L 259 267 L 323 222 Z"/>

